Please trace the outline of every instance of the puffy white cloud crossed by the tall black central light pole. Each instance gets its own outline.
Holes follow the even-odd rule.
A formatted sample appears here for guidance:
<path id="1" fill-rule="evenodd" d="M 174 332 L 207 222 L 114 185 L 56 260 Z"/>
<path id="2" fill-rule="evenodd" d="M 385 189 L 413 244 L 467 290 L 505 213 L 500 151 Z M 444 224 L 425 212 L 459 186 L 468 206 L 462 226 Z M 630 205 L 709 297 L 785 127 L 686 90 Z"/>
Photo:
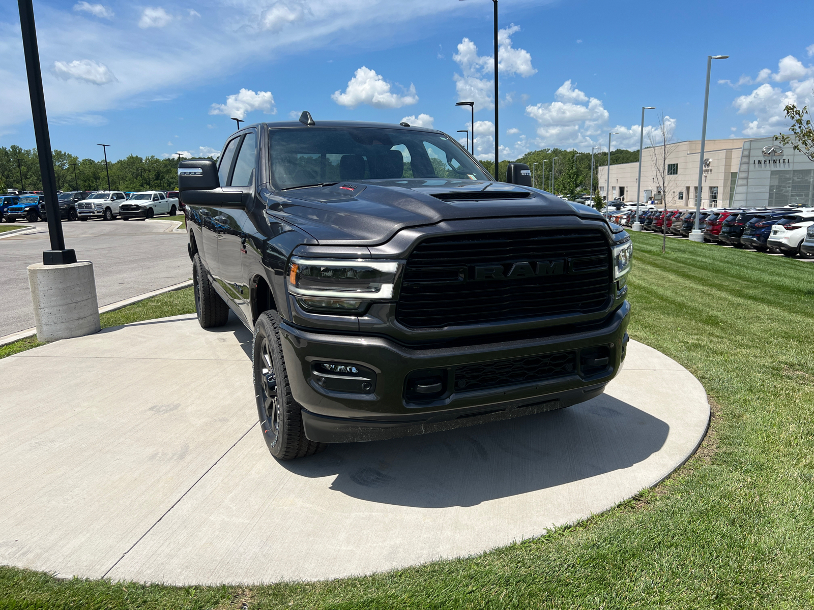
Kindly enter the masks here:
<path id="1" fill-rule="evenodd" d="M 532 55 L 527 50 L 514 49 L 511 42 L 512 34 L 519 31 L 519 26 L 511 24 L 497 33 L 498 65 L 501 75 L 527 77 L 536 71 L 532 67 Z M 494 57 L 492 55 L 478 55 L 478 47 L 469 38 L 464 38 L 457 46 L 457 53 L 453 59 L 461 67 L 462 74 L 457 72 L 453 76 L 458 100 L 462 102 L 475 102 L 475 109 L 491 110 L 494 108 L 492 91 L 494 79 L 487 80 L 487 74 L 494 74 Z M 507 99 L 510 102 L 510 99 Z M 501 102 L 502 104 L 502 102 Z"/>

